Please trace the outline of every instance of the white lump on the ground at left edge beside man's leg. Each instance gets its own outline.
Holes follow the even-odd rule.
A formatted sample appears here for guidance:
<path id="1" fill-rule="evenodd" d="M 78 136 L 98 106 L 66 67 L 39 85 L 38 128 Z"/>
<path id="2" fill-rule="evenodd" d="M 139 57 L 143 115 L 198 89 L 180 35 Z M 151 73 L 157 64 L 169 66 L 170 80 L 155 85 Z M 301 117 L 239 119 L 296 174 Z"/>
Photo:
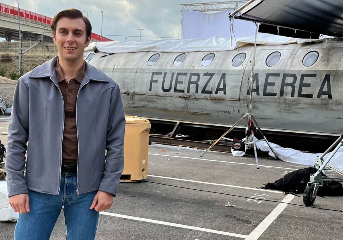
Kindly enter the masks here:
<path id="1" fill-rule="evenodd" d="M 14 212 L 8 202 L 7 183 L 0 181 L 0 221 L 16 221 L 19 214 Z"/>

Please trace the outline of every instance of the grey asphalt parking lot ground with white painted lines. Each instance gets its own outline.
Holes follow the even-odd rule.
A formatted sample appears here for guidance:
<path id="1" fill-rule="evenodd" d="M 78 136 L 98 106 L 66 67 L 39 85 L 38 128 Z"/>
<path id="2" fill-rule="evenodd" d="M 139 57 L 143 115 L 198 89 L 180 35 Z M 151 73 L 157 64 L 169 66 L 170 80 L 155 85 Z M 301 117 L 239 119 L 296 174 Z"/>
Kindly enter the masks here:
<path id="1" fill-rule="evenodd" d="M 5 132 L 0 124 L 2 141 Z M 302 194 L 257 189 L 306 166 L 259 157 L 257 169 L 255 157 L 200 157 L 203 151 L 150 145 L 148 178 L 119 184 L 113 206 L 100 213 L 96 239 L 343 239 L 342 197 L 317 196 L 307 207 Z M 0 223 L 1 239 L 13 239 L 14 227 Z M 65 235 L 61 212 L 50 239 Z"/>

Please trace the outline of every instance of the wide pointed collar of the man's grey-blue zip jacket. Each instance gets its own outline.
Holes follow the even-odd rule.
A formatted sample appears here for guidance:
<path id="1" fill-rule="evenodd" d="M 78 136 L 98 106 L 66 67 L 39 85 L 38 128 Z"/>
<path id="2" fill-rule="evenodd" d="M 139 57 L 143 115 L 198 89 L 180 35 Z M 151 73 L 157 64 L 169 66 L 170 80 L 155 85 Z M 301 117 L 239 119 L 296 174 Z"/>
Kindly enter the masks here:
<path id="1" fill-rule="evenodd" d="M 44 78 L 44 77 L 53 77 L 56 78 L 56 61 L 58 56 L 52 58 L 51 60 L 43 63 L 42 65 L 39 65 L 35 67 L 29 77 L 31 78 Z M 109 82 L 108 77 L 103 73 L 101 70 L 93 67 L 91 64 L 86 64 L 86 74 L 85 78 L 88 78 L 89 80 L 93 80 L 96 82 Z"/>

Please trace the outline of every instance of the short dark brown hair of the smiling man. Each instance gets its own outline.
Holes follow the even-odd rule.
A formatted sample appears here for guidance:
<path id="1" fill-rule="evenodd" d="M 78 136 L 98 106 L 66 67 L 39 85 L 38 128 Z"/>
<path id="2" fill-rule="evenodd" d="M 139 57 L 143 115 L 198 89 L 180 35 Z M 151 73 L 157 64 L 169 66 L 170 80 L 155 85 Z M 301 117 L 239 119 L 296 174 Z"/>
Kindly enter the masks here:
<path id="1" fill-rule="evenodd" d="M 52 33 L 54 33 L 54 35 L 56 34 L 57 22 L 61 17 L 67 17 L 69 19 L 82 18 L 86 24 L 86 39 L 88 39 L 88 37 L 92 35 L 91 22 L 87 19 L 87 17 L 85 17 L 82 14 L 82 12 L 79 9 L 75 9 L 75 8 L 70 8 L 70 9 L 60 11 L 51 19 L 51 30 L 52 30 Z"/>

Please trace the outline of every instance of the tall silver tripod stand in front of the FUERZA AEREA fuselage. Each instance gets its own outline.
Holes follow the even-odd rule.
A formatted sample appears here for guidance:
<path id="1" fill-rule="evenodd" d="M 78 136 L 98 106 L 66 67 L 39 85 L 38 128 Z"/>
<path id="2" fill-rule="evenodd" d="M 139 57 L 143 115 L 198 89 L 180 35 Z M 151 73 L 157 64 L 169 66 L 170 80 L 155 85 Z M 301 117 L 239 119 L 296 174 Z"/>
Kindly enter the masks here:
<path id="1" fill-rule="evenodd" d="M 202 157 L 207 151 L 209 151 L 217 142 L 219 142 L 222 138 L 224 138 L 224 136 L 226 134 L 228 134 L 240 121 L 242 121 L 243 119 L 245 119 L 245 117 L 248 117 L 248 126 L 247 126 L 247 129 L 246 129 L 246 137 L 245 137 L 245 141 L 244 141 L 244 144 L 245 145 L 250 145 L 251 143 L 253 144 L 254 146 L 254 152 L 255 152 L 255 159 L 256 159 L 256 167 L 259 168 L 259 165 L 258 165 L 258 158 L 257 158 L 257 151 L 256 151 L 256 143 L 257 142 L 261 142 L 261 141 L 265 141 L 267 142 L 270 150 L 273 152 L 274 154 L 274 158 L 276 159 L 276 153 L 274 152 L 273 148 L 270 146 L 267 138 L 263 135 L 256 119 L 254 118 L 253 116 L 253 113 L 251 113 L 251 107 L 252 107 L 252 85 L 253 85 L 253 82 L 254 82 L 254 71 L 255 71 L 255 56 L 256 56 L 256 43 L 257 43 L 257 32 L 258 32 L 258 23 L 256 23 L 256 32 L 255 32 L 255 45 L 254 45 L 254 54 L 253 54 L 253 60 L 252 60 L 252 70 L 251 70 L 251 75 L 249 77 L 249 108 L 248 108 L 248 113 L 245 113 L 243 115 L 243 117 L 241 117 L 229 130 L 227 130 L 219 139 L 217 139 L 217 141 L 215 141 L 209 148 L 207 148 L 205 150 L 205 152 L 203 152 L 200 156 Z M 253 130 L 253 126 L 256 126 L 257 127 L 257 130 L 261 133 L 261 135 L 263 136 L 263 139 L 260 139 L 260 140 L 255 140 L 255 136 L 254 136 L 254 130 Z M 249 140 L 249 136 L 252 136 L 252 140 Z M 230 140 L 230 141 L 233 141 L 233 139 L 228 139 L 228 138 L 224 138 L 226 140 Z M 249 140 L 249 142 L 248 142 Z"/>

